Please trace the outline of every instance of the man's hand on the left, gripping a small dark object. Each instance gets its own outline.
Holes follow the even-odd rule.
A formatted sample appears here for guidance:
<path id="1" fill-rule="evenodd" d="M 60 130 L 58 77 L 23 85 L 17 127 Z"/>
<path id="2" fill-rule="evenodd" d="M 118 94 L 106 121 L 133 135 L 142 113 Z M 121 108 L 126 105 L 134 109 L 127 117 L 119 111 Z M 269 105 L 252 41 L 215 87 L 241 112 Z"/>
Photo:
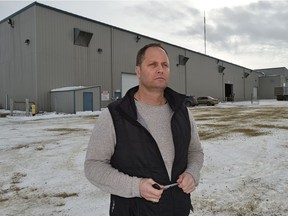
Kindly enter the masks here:
<path id="1" fill-rule="evenodd" d="M 140 196 L 151 202 L 159 202 L 163 189 L 157 190 L 153 188 L 156 182 L 153 179 L 144 178 L 140 182 Z"/>

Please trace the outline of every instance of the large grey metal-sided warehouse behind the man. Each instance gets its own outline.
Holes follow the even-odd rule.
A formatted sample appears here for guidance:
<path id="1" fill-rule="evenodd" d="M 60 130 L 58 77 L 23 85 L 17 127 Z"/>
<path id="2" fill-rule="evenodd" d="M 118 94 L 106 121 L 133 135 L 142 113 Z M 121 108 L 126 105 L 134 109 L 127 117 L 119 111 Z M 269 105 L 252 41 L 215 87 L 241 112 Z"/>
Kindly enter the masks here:
<path id="1" fill-rule="evenodd" d="M 136 52 L 160 42 L 168 51 L 170 86 L 227 101 L 259 94 L 259 71 L 34 2 L 0 22 L 0 106 L 33 101 L 54 111 L 51 90 L 100 86 L 101 107 L 137 85 Z M 287 70 L 287 69 L 286 69 Z M 99 97 L 97 95 L 97 97 Z M 24 109 L 15 104 L 15 109 Z"/>

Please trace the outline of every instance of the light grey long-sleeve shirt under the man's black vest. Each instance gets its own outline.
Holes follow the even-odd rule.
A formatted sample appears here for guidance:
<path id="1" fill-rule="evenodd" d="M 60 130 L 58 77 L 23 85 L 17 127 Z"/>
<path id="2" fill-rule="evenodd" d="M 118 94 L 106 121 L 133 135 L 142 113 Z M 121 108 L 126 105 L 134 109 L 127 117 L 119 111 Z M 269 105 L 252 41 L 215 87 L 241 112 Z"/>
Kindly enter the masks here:
<path id="1" fill-rule="evenodd" d="M 138 121 L 146 127 L 156 140 L 167 172 L 171 176 L 174 160 L 174 144 L 171 133 L 171 117 L 173 111 L 168 104 L 161 106 L 146 105 L 136 101 Z M 189 111 L 191 122 L 191 141 L 188 152 L 186 172 L 190 173 L 196 185 L 199 183 L 200 170 L 203 165 L 203 150 L 200 144 L 196 123 Z M 111 194 L 121 197 L 140 197 L 141 178 L 128 176 L 110 164 L 114 153 L 116 135 L 113 120 L 108 109 L 102 111 L 96 120 L 85 159 L 85 174 L 87 179 Z M 129 151 L 129 149 L 127 149 Z"/>

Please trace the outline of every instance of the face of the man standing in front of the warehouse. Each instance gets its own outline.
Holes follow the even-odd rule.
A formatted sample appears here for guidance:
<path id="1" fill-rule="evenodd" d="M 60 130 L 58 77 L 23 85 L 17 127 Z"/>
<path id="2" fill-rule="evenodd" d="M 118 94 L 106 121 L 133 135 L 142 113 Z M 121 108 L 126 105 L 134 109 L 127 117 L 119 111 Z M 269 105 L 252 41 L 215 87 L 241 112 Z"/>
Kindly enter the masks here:
<path id="1" fill-rule="evenodd" d="M 169 59 L 160 47 L 146 50 L 143 62 L 136 66 L 139 85 L 147 89 L 165 89 L 168 86 L 170 68 Z"/>

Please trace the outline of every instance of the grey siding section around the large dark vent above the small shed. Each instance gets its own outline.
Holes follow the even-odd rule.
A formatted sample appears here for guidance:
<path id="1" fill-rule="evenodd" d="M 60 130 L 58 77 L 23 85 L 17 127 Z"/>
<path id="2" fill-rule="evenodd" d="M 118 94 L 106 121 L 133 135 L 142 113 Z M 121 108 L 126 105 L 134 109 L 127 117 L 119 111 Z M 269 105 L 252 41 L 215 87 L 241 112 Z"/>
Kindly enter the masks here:
<path id="1" fill-rule="evenodd" d="M 73 29 L 93 33 L 89 47 L 74 45 Z M 110 27 L 37 7 L 38 83 L 43 108 L 45 92 L 73 85 L 111 86 Z M 98 49 L 102 49 L 102 53 Z"/>

